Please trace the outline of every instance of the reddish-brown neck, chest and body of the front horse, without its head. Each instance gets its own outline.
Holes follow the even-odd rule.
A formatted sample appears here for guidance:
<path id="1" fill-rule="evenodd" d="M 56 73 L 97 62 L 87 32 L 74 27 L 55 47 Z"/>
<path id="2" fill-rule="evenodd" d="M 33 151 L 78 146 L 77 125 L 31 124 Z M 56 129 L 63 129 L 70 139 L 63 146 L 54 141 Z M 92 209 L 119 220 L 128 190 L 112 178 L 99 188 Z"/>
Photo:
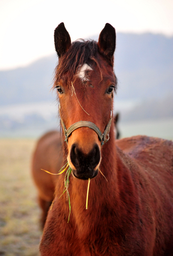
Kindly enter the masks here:
<path id="1" fill-rule="evenodd" d="M 90 182 L 88 210 L 87 183 L 71 177 L 69 223 L 68 203 L 59 199 L 61 179 L 44 229 L 43 255 L 172 255 L 173 143 L 138 136 L 116 145 L 117 172 L 107 163 L 108 182 L 101 174 Z"/>

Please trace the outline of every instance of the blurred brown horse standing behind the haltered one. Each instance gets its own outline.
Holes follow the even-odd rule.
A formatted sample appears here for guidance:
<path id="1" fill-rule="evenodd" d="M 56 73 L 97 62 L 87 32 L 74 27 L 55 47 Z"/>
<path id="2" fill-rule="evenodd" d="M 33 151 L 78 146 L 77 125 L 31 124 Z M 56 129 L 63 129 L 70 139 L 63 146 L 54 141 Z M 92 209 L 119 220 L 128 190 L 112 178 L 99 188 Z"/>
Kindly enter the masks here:
<path id="1" fill-rule="evenodd" d="M 119 113 L 114 116 L 114 131 L 116 139 L 119 139 L 120 132 L 117 127 Z M 50 208 L 56 187 L 57 176 L 43 172 L 46 170 L 51 173 L 57 173 L 62 167 L 62 138 L 59 131 L 45 133 L 37 142 L 34 154 L 32 156 L 32 177 L 38 188 L 38 202 L 42 209 L 42 218 L 40 224 L 44 228 L 47 218 L 47 212 Z"/>

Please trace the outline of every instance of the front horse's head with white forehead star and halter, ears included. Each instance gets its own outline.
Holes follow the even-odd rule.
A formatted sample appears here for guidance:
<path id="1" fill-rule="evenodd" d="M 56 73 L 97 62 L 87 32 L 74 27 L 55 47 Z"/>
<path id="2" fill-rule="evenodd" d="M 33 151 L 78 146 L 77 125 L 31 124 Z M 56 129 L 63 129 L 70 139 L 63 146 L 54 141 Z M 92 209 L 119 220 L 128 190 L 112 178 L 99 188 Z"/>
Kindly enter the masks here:
<path id="1" fill-rule="evenodd" d="M 71 43 L 64 23 L 60 23 L 54 42 L 59 57 L 54 88 L 60 101 L 68 163 L 76 178 L 91 179 L 98 173 L 102 146 L 109 139 L 113 90 L 117 85 L 113 72 L 116 31 L 106 23 L 98 43 Z"/>

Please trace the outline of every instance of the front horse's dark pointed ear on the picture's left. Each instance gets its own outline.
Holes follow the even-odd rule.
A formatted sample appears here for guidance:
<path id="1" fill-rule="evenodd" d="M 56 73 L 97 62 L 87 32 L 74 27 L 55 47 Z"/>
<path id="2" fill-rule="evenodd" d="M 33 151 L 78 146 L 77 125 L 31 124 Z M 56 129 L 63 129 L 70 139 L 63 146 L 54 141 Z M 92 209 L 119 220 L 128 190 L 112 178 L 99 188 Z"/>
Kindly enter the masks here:
<path id="1" fill-rule="evenodd" d="M 70 48 L 71 38 L 63 22 L 55 28 L 54 43 L 58 57 L 61 57 Z"/>

